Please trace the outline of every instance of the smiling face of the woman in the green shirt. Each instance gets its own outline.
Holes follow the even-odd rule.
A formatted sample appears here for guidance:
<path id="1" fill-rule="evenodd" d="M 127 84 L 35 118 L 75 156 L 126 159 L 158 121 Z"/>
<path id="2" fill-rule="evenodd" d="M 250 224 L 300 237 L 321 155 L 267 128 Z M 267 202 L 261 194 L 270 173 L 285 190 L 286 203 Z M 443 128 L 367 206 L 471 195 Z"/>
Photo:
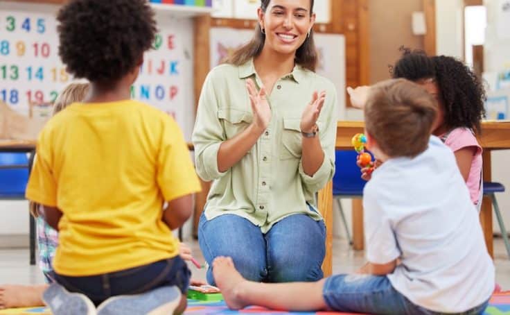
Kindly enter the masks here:
<path id="1" fill-rule="evenodd" d="M 264 44 L 278 53 L 295 53 L 315 22 L 310 11 L 310 0 L 271 0 L 265 12 L 259 8 Z"/>

